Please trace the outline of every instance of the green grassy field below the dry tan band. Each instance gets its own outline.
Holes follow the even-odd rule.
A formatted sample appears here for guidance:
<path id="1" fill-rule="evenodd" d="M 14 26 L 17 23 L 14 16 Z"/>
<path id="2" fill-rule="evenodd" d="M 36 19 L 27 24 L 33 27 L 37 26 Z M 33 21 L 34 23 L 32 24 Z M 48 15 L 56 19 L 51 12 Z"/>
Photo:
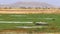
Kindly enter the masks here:
<path id="1" fill-rule="evenodd" d="M 57 30 L 60 29 L 60 14 L 0 14 L 0 29 L 16 29 L 15 26 L 35 26 L 34 23 L 13 22 L 47 22 L 49 24 L 47 30 L 50 30 L 49 28 Z"/>

